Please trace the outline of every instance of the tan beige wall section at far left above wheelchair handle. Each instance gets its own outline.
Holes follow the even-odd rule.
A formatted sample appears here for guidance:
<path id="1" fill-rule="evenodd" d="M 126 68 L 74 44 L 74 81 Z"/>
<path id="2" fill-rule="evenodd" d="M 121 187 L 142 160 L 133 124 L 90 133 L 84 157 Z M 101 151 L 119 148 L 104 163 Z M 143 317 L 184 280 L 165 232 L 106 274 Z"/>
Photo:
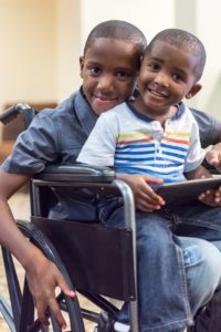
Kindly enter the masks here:
<path id="1" fill-rule="evenodd" d="M 54 0 L 0 0 L 0 104 L 54 100 Z"/>

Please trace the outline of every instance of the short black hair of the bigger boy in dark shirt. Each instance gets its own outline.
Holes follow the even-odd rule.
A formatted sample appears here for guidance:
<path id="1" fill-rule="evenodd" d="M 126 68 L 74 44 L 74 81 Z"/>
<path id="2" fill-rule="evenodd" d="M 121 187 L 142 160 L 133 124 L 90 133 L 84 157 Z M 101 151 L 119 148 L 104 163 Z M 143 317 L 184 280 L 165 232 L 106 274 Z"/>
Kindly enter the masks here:
<path id="1" fill-rule="evenodd" d="M 134 24 L 120 20 L 104 21 L 91 31 L 84 46 L 84 55 L 97 38 L 109 38 L 133 43 L 138 56 L 143 56 L 147 46 L 144 33 Z"/>

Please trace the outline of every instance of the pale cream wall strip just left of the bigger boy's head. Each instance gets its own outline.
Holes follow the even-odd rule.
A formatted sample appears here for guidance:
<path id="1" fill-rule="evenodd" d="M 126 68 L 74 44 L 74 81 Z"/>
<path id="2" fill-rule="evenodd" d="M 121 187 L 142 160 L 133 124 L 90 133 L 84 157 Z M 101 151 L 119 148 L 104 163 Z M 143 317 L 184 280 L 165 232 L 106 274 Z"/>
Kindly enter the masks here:
<path id="1" fill-rule="evenodd" d="M 46 0 L 45 0 L 46 1 Z M 57 100 L 66 98 L 80 84 L 81 0 L 56 0 Z"/>

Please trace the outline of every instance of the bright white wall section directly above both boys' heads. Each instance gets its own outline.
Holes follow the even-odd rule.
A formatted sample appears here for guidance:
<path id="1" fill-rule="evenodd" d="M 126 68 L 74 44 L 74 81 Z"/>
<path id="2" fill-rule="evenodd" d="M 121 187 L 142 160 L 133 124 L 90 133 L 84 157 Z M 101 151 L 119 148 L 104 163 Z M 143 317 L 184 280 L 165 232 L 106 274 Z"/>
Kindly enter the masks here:
<path id="1" fill-rule="evenodd" d="M 173 0 L 81 0 L 82 45 L 90 30 L 105 20 L 129 21 L 149 40 L 165 27 L 172 27 L 173 18 Z"/>

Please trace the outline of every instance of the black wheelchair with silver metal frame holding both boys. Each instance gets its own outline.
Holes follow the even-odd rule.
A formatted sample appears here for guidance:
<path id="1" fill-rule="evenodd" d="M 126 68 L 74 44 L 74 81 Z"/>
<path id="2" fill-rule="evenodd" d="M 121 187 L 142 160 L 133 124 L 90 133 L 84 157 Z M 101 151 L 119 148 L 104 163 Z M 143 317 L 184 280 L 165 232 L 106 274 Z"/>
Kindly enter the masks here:
<path id="1" fill-rule="evenodd" d="M 18 115 L 28 127 L 35 111 L 27 104 L 18 104 L 3 112 L 0 122 L 7 124 Z M 125 227 L 110 228 L 98 220 L 50 219 L 57 187 L 74 188 L 76 193 L 83 188 L 102 196 L 120 195 Z M 110 298 L 127 302 L 129 307 L 129 325 L 120 330 L 117 328 L 120 324 L 115 323 L 115 331 L 138 332 L 135 207 L 129 186 L 116 179 L 115 173 L 107 167 L 53 165 L 31 179 L 30 205 L 31 218 L 17 220 L 19 229 L 57 266 L 69 286 L 97 308 L 96 311 L 82 308 L 78 297 L 71 299 L 59 292 L 56 299 L 69 322 L 66 331 L 86 332 L 86 321 L 96 325 L 94 331 L 110 331 L 119 311 Z M 50 308 L 46 311 L 50 326 L 38 320 L 25 274 L 22 280 L 19 278 L 13 256 L 7 248 L 1 249 L 10 302 L 0 297 L 0 312 L 9 331 L 62 331 Z"/>

